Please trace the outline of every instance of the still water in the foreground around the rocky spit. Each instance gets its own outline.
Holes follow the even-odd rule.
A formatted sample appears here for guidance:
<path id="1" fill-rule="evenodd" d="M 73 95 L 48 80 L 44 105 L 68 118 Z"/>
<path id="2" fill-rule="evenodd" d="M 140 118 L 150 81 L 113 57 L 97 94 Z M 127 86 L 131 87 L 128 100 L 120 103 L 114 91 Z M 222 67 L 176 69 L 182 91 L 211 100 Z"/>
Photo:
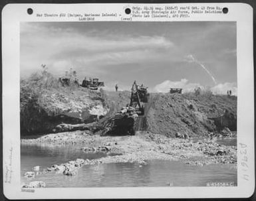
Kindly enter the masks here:
<path id="1" fill-rule="evenodd" d="M 66 163 L 77 158 L 96 159 L 103 153 L 86 154 L 74 146 L 47 147 L 26 145 L 21 147 L 21 181 L 26 171 L 39 165 Z M 75 176 L 49 172 L 37 175 L 31 180 L 43 180 L 47 187 L 128 187 L 128 186 L 205 186 L 207 182 L 235 182 L 237 170 L 229 165 L 188 166 L 178 161 L 148 161 L 147 165 L 137 163 L 111 163 L 88 165 L 80 168 Z"/>

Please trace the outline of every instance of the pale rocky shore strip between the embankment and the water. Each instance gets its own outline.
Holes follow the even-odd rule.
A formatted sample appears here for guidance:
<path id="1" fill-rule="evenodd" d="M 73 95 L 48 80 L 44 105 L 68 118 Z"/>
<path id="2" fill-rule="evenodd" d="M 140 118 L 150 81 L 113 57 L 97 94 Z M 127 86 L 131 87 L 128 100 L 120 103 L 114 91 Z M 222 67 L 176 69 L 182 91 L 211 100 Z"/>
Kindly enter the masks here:
<path id="1" fill-rule="evenodd" d="M 53 133 L 37 139 L 21 139 L 21 144 L 74 145 L 84 153 L 104 152 L 107 155 L 92 160 L 74 159 L 63 164 L 53 164 L 43 170 L 35 167 L 34 172 L 29 173 L 31 177 L 52 171 L 72 176 L 84 165 L 138 163 L 142 166 L 154 159 L 182 161 L 187 165 L 197 166 L 231 164 L 231 167 L 236 168 L 237 165 L 236 146 L 220 145 L 213 139 L 174 139 L 148 132 L 138 132 L 134 136 L 100 137 L 90 135 L 87 131 L 74 131 Z M 25 176 L 27 175 L 28 173 Z"/>

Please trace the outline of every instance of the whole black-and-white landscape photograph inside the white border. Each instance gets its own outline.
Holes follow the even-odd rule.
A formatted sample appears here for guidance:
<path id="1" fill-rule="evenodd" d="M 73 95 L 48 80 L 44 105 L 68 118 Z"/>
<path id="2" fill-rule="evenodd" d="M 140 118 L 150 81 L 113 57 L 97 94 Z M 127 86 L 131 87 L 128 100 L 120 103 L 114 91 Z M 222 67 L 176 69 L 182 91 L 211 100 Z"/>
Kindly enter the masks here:
<path id="1" fill-rule="evenodd" d="M 23 188 L 237 186 L 236 23 L 20 29 Z"/>

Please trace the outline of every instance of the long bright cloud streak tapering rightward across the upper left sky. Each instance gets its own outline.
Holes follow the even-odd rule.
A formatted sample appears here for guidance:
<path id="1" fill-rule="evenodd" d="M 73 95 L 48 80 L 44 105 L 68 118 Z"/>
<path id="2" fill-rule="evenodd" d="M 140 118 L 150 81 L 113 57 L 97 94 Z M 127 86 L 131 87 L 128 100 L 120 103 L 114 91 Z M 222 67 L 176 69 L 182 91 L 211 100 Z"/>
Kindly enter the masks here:
<path id="1" fill-rule="evenodd" d="M 30 40 L 30 36 L 33 40 Z M 124 52 L 138 49 L 150 48 L 171 48 L 174 43 L 164 36 L 122 36 L 117 35 L 115 38 L 107 36 L 93 36 L 88 33 L 80 33 L 72 29 L 57 29 L 54 27 L 39 27 L 38 25 L 22 24 L 21 41 L 23 45 L 37 46 L 38 50 L 45 47 L 51 54 L 59 52 L 78 54 L 78 51 L 86 53 L 102 52 Z M 51 48 L 49 48 L 51 47 Z M 43 50 L 43 49 L 42 49 Z M 56 52 L 59 50 L 59 52 Z M 64 54 L 64 57 L 66 54 Z M 81 56 L 81 54 L 78 54 Z"/>

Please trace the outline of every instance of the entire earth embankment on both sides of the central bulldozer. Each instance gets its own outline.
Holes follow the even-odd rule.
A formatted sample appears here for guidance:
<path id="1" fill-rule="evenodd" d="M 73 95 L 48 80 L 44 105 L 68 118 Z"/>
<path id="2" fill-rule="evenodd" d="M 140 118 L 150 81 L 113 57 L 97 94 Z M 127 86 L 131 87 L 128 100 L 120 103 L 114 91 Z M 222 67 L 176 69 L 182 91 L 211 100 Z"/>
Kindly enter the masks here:
<path id="1" fill-rule="evenodd" d="M 100 125 L 128 103 L 128 91 L 63 87 L 51 74 L 34 74 L 21 81 L 21 135 L 53 133 L 66 128 L 68 131 L 87 129 L 80 124 Z M 144 116 L 136 121 L 137 131 L 168 137 L 175 137 L 177 133 L 198 137 L 220 131 L 223 124 L 236 130 L 237 98 L 233 96 L 150 94 L 144 106 Z M 215 118 L 220 115 L 223 117 Z"/>

